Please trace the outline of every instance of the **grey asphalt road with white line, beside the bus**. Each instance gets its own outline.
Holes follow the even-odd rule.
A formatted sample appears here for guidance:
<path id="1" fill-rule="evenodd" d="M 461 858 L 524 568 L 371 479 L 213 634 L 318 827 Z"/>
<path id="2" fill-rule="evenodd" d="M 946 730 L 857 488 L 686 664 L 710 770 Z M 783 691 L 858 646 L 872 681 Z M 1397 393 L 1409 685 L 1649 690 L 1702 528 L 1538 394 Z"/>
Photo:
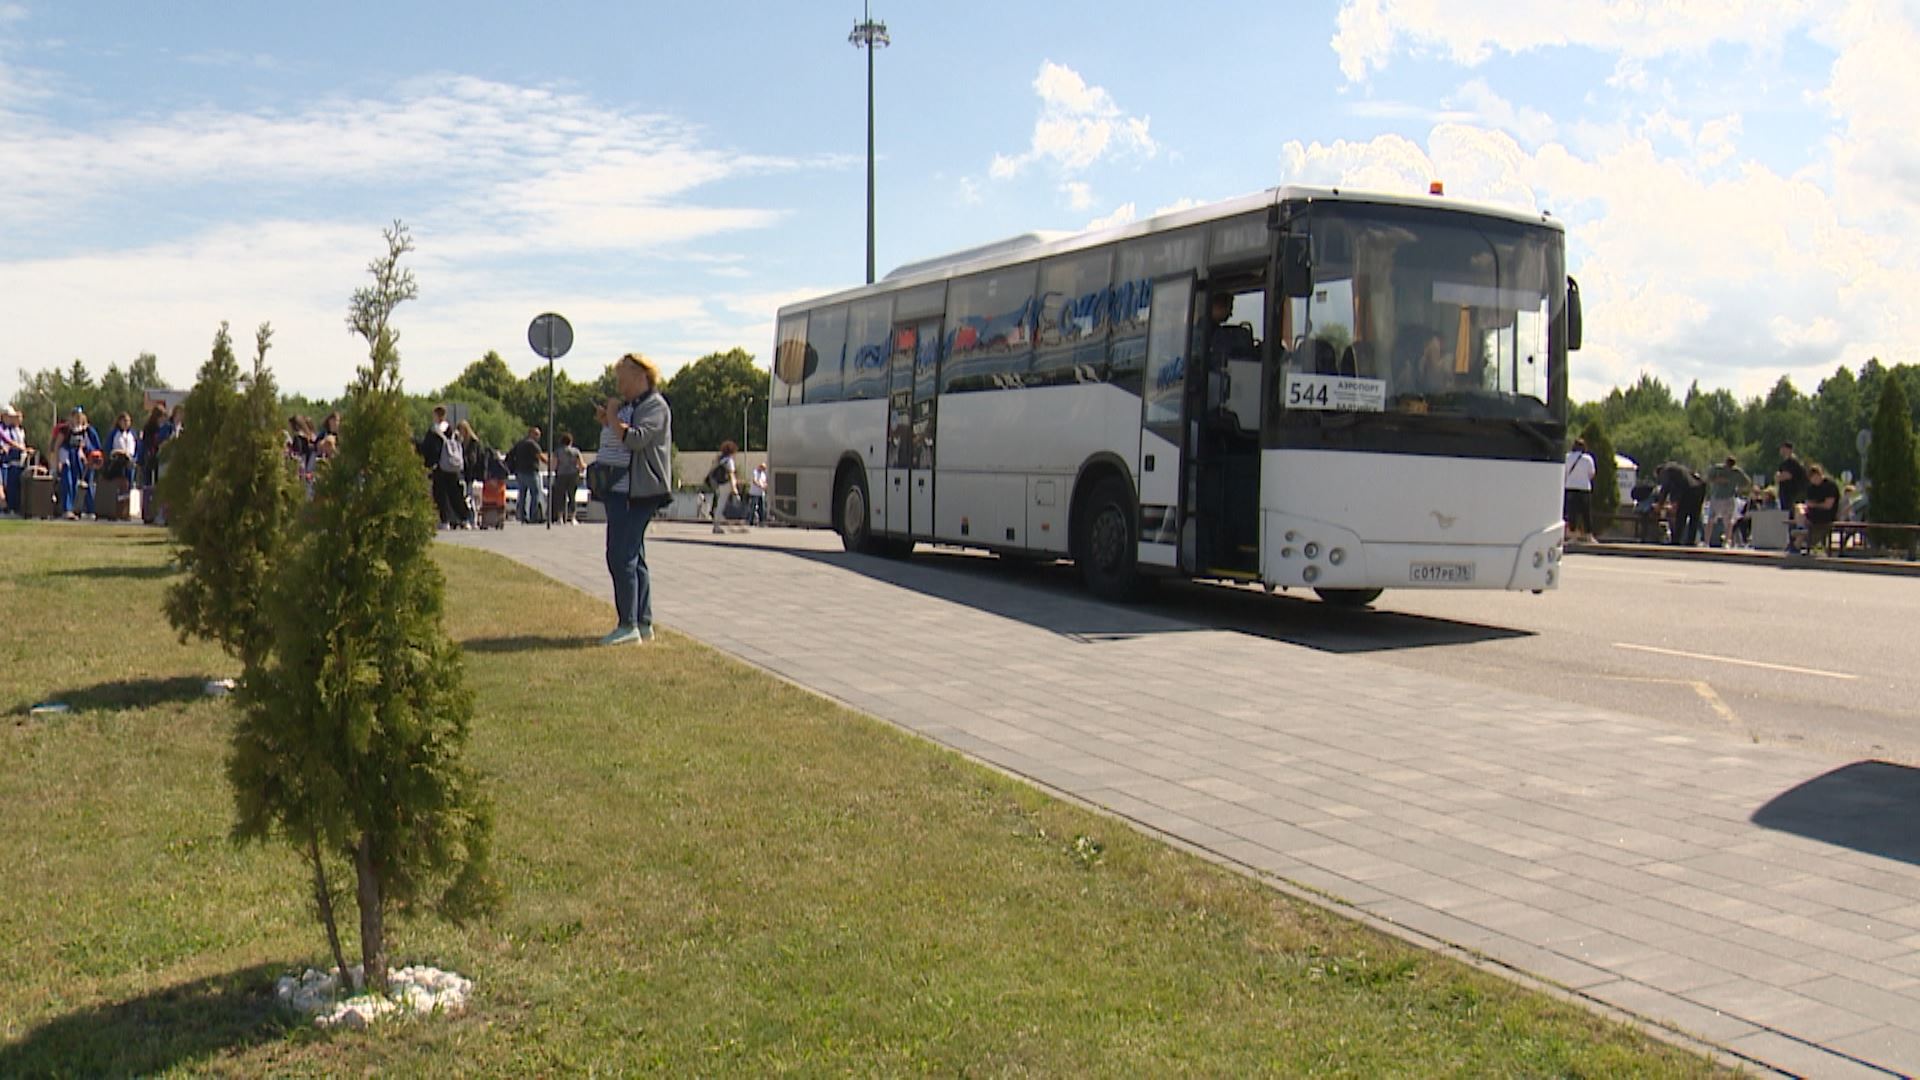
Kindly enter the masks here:
<path id="1" fill-rule="evenodd" d="M 1066 565 L 927 548 L 916 559 L 1077 588 Z M 1920 765 L 1920 578 L 1615 555 L 1569 555 L 1563 578 L 1542 596 L 1388 590 L 1371 611 L 1181 582 L 1146 607 L 1682 732 Z"/>

